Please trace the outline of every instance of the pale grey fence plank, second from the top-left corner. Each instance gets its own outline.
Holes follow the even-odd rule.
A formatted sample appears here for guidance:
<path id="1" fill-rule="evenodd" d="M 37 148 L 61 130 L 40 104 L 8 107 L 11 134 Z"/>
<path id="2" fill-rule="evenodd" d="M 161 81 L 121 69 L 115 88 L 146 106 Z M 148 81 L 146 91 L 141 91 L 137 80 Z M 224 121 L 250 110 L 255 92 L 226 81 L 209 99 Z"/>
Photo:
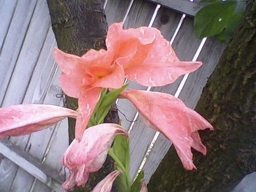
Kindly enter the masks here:
<path id="1" fill-rule="evenodd" d="M 15 2 L 15 1 L 9 1 L 5 0 L 2 2 Z M 8 4 L 9 4 L 8 3 Z M 13 6 L 15 6 L 14 4 Z M 14 70 L 14 67 L 16 65 L 16 61 L 18 59 L 20 49 L 22 47 L 24 37 L 26 35 L 28 25 L 34 10 L 34 7 L 36 5 L 36 1 L 33 0 L 20 0 L 16 6 L 16 9 L 14 11 L 12 20 L 10 22 L 10 27 L 8 29 L 8 32 L 5 36 L 5 34 L 2 34 L 4 31 L 4 28 L 1 26 L 1 34 L 0 38 L 5 36 L 4 44 L 1 47 L 0 50 L 0 105 L 2 106 L 2 102 L 4 99 L 4 95 L 6 93 L 10 78 L 12 76 L 12 72 Z M 4 10 L 10 11 L 8 5 L 3 4 L 1 7 Z M 5 14 L 5 11 L 0 11 L 0 14 Z M 8 16 L 8 14 L 6 14 Z M 5 18 L 5 17 L 0 17 Z M 8 18 L 6 18 L 8 20 Z M 5 20 L 4 20 L 5 21 Z M 5 21 L 6 22 L 6 21 Z M 3 26 L 4 27 L 4 26 Z M 3 35 L 3 36 L 2 36 Z M 16 94 L 13 94 L 16 96 Z"/>

